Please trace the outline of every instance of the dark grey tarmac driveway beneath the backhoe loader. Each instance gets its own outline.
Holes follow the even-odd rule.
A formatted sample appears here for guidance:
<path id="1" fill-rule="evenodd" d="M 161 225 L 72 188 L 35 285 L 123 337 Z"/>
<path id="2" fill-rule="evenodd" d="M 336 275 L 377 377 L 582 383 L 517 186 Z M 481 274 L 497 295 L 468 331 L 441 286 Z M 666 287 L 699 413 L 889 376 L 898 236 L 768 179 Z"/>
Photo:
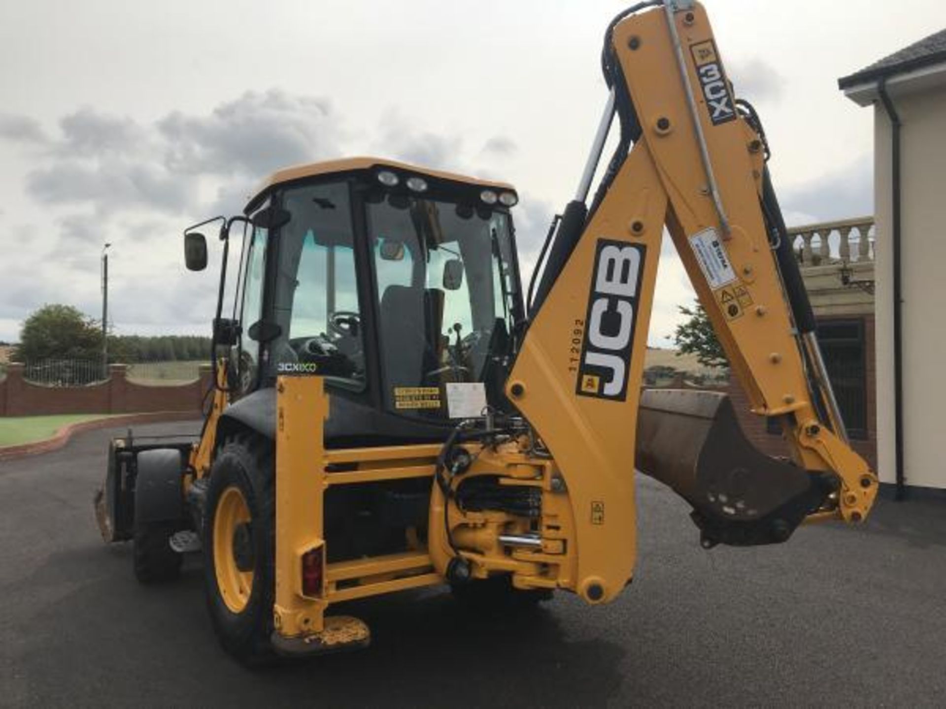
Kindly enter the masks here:
<path id="1" fill-rule="evenodd" d="M 101 543 L 92 494 L 119 432 L 0 462 L 0 706 L 946 703 L 946 502 L 881 501 L 863 527 L 707 552 L 687 505 L 639 478 L 636 578 L 608 606 L 561 593 L 473 616 L 405 592 L 344 608 L 371 648 L 249 671 L 219 649 L 197 560 L 143 587 L 130 546 Z"/>

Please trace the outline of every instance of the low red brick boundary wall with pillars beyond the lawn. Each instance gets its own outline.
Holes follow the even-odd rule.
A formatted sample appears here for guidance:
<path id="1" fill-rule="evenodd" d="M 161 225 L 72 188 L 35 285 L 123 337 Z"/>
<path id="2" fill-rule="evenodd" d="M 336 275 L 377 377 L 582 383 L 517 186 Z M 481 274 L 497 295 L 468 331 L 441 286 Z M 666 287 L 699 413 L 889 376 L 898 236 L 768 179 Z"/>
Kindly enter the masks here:
<path id="1" fill-rule="evenodd" d="M 128 366 L 109 366 L 109 378 L 86 387 L 44 387 L 26 381 L 22 364 L 9 364 L 0 381 L 0 416 L 65 413 L 146 413 L 201 411 L 213 377 L 201 366 L 197 380 L 176 386 L 150 386 L 128 380 Z"/>

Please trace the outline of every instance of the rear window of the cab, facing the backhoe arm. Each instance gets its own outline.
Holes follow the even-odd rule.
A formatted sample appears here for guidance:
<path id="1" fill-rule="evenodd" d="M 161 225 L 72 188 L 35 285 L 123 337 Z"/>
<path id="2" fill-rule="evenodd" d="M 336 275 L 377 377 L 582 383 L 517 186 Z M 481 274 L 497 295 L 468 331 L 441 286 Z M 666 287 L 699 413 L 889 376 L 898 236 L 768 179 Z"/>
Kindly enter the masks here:
<path id="1" fill-rule="evenodd" d="M 509 216 L 404 196 L 367 206 L 387 404 L 443 413 L 441 385 L 485 381 L 509 353 Z"/>

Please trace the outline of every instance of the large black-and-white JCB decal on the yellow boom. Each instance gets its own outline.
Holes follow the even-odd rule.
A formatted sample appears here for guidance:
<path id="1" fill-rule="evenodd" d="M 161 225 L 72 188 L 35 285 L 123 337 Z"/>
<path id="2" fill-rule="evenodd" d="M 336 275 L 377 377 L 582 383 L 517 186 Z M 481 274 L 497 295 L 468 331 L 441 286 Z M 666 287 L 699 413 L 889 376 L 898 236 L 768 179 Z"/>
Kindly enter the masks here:
<path id="1" fill-rule="evenodd" d="M 646 251 L 639 244 L 598 239 L 575 386 L 580 396 L 627 398 Z"/>

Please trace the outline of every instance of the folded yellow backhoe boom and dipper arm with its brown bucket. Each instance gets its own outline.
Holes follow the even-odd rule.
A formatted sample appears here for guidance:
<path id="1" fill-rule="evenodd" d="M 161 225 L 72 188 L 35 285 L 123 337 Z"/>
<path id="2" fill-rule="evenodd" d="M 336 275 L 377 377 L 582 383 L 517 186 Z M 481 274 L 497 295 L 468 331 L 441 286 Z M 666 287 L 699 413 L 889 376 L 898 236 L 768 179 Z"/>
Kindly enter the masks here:
<path id="1" fill-rule="evenodd" d="M 579 579 L 630 577 L 633 558 L 594 549 L 634 539 L 635 460 L 690 501 L 708 546 L 780 542 L 812 516 L 859 521 L 877 493 L 817 350 L 762 128 L 735 100 L 704 9 L 667 1 L 609 28 L 608 105 L 621 146 L 634 145 L 619 147 L 587 218 L 575 218 L 581 190 L 569 204 L 506 388 L 568 481 Z M 791 462 L 733 442 L 742 436 L 718 395 L 641 401 L 665 228 L 752 410 L 780 419 Z"/>

